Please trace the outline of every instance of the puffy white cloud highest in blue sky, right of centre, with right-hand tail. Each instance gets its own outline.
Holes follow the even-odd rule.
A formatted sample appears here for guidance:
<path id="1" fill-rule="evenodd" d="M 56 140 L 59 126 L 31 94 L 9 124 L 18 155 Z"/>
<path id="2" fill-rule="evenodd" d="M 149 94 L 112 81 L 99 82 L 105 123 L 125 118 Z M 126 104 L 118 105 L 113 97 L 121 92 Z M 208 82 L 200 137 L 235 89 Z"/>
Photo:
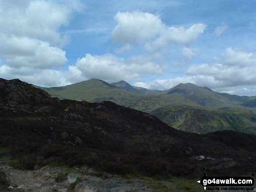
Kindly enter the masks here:
<path id="1" fill-rule="evenodd" d="M 143 44 L 147 51 L 156 52 L 171 43 L 191 44 L 204 33 L 205 24 L 189 28 L 164 24 L 158 15 L 143 12 L 118 12 L 114 17 L 117 25 L 113 39 L 124 44 Z"/>

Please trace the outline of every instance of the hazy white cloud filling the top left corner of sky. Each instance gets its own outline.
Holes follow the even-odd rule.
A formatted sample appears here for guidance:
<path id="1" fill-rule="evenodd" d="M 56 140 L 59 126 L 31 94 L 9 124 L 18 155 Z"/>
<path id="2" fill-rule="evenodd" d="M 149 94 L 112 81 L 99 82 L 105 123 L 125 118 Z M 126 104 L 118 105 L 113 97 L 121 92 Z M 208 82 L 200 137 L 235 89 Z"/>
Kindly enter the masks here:
<path id="1" fill-rule="evenodd" d="M 62 41 L 59 27 L 67 25 L 72 12 L 77 10 L 76 3 L 73 6 L 61 5 L 45 0 L 4 1 L 2 4 L 0 26 L 4 27 L 0 27 L 0 33 L 40 38 L 55 45 Z"/>

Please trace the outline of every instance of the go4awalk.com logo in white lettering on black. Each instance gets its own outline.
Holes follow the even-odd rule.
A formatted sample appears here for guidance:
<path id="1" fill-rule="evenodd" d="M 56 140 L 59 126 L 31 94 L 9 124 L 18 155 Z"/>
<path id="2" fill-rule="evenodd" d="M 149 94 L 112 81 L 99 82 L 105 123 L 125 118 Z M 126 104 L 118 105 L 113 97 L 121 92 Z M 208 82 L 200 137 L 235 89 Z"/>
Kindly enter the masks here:
<path id="1" fill-rule="evenodd" d="M 203 176 L 198 183 L 206 190 L 252 190 L 254 179 L 252 177 L 213 177 Z"/>

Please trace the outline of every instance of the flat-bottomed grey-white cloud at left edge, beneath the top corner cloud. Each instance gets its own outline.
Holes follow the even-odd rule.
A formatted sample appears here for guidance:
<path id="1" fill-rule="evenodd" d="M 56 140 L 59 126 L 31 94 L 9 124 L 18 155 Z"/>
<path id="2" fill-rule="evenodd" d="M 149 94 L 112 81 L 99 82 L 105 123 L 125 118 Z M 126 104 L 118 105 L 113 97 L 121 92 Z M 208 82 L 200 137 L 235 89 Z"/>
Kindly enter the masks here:
<path id="1" fill-rule="evenodd" d="M 41 40 L 0 34 L 0 42 L 0 55 L 11 67 L 51 68 L 61 67 L 67 62 L 65 51 Z"/>

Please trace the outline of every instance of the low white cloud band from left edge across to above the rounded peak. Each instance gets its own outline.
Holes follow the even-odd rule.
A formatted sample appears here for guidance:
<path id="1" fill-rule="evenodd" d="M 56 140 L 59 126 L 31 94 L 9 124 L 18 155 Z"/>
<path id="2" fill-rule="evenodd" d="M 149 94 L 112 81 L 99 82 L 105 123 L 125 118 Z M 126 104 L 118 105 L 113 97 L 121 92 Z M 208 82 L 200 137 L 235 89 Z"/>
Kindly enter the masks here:
<path id="1" fill-rule="evenodd" d="M 75 66 L 68 66 L 68 71 L 30 66 L 0 66 L 0 77 L 20 80 L 46 87 L 64 86 L 90 78 L 99 78 L 107 82 L 120 80 L 139 80 L 147 74 L 162 74 L 165 67 L 160 67 L 146 56 L 132 57 L 129 60 L 113 54 L 92 56 L 86 54 L 79 58 Z"/>

